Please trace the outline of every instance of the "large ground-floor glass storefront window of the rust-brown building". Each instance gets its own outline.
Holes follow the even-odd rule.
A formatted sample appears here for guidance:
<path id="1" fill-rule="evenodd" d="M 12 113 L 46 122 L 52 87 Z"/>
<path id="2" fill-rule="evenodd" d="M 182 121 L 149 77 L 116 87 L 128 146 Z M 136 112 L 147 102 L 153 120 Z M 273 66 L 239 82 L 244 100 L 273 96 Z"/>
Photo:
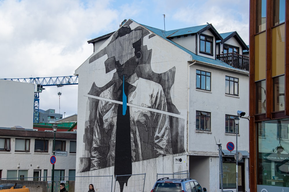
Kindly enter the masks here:
<path id="1" fill-rule="evenodd" d="M 257 137 L 257 185 L 289 187 L 288 125 L 289 119 L 257 123 L 264 128 L 264 136 Z"/>

